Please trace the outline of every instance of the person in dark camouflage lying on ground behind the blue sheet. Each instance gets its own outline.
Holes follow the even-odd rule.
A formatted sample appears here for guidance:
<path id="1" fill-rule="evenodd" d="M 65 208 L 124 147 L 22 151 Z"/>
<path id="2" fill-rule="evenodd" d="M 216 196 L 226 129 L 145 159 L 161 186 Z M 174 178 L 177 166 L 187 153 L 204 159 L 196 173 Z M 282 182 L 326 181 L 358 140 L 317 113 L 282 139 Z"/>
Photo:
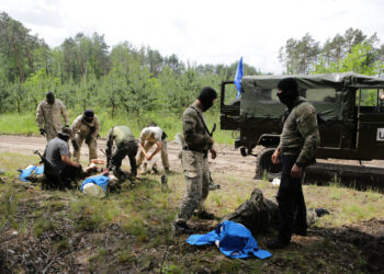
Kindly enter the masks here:
<path id="1" fill-rule="evenodd" d="M 307 227 L 314 225 L 325 214 L 329 214 L 329 212 L 324 208 L 307 210 Z M 224 216 L 222 221 L 231 220 L 242 224 L 256 235 L 269 229 L 279 228 L 278 216 L 278 204 L 264 198 L 262 192 L 255 189 L 250 198 L 244 202 L 234 213 Z"/>

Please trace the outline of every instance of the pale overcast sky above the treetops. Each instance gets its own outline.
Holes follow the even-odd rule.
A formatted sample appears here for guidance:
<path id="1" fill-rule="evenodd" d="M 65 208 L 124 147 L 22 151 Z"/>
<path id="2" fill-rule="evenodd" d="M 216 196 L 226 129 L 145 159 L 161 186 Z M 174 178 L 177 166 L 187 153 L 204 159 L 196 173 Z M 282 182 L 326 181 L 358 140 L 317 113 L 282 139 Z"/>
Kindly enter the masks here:
<path id="1" fill-rule="evenodd" d="M 0 11 L 52 46 L 79 32 L 110 46 L 149 45 L 190 64 L 244 61 L 280 73 L 279 48 L 309 33 L 321 44 L 349 27 L 384 43 L 383 0 L 0 0 Z"/>

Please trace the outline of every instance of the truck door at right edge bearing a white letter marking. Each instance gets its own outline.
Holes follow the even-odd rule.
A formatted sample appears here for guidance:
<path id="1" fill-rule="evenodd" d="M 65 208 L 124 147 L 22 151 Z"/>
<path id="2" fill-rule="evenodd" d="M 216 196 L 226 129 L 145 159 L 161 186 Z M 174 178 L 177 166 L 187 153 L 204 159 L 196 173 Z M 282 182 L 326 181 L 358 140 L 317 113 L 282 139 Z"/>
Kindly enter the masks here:
<path id="1" fill-rule="evenodd" d="M 360 89 L 357 94 L 357 147 L 366 159 L 384 158 L 384 100 L 382 90 Z"/>

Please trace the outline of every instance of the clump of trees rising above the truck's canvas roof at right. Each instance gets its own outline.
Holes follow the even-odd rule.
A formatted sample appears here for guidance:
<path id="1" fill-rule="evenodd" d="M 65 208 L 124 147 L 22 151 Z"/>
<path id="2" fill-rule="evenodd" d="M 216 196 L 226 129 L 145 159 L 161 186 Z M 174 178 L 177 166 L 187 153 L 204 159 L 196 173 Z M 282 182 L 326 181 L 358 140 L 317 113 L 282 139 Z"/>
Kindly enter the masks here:
<path id="1" fill-rule="evenodd" d="M 374 33 L 370 37 L 360 30 L 348 28 L 323 46 L 309 33 L 301 39 L 290 38 L 280 48 L 279 59 L 289 75 L 354 71 L 381 76 L 384 69 L 384 44 Z"/>

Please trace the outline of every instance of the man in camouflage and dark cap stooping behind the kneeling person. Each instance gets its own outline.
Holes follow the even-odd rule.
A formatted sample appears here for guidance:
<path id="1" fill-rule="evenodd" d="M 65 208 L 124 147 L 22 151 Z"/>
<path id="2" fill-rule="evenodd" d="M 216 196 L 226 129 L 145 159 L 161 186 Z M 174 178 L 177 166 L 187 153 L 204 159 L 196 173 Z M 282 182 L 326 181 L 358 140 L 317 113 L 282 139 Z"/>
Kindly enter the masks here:
<path id="1" fill-rule="evenodd" d="M 97 138 L 100 132 L 100 122 L 98 116 L 91 110 L 84 111 L 82 115 L 79 115 L 72 124 L 72 146 L 74 146 L 74 160 L 79 162 L 80 149 L 82 142 L 89 148 L 89 161 L 98 158 L 98 144 Z"/>

